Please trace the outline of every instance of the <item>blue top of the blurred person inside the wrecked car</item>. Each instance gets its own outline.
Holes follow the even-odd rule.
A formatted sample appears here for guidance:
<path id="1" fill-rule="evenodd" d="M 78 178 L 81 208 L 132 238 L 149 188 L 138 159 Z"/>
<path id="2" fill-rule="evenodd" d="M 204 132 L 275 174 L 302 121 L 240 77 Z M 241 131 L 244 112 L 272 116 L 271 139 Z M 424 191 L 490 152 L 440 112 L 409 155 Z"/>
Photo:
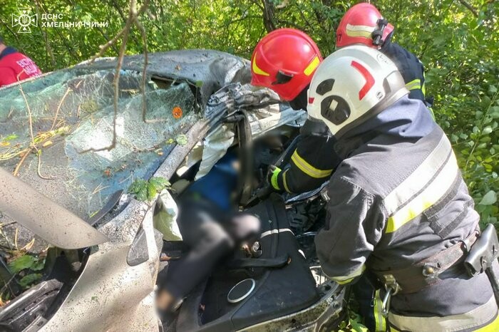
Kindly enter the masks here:
<path id="1" fill-rule="evenodd" d="M 207 175 L 192 183 L 187 189 L 190 194 L 200 194 L 201 197 L 220 207 L 223 210 L 230 210 L 230 197 L 232 191 L 237 187 L 237 170 L 234 162 L 237 157 L 227 152 L 218 160 Z"/>

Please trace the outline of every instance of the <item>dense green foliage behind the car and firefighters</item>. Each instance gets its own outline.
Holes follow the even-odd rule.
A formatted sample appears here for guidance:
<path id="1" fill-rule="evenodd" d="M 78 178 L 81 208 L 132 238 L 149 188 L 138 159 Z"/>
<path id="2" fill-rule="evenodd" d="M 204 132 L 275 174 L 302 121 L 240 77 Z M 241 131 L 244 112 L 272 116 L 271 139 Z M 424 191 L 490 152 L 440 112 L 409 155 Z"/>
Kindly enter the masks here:
<path id="1" fill-rule="evenodd" d="M 140 4 L 143 4 L 141 0 Z M 72 66 L 95 55 L 124 26 L 128 0 L 3 1 L 0 35 L 34 58 L 43 71 Z M 332 0 L 150 0 L 140 16 L 148 49 L 215 48 L 249 58 L 267 31 L 280 27 L 309 33 L 327 55 L 344 11 L 358 1 Z M 499 192 L 499 3 L 493 0 L 372 1 L 396 26 L 395 39 L 426 66 L 427 95 L 436 120 L 450 136 L 475 198 L 482 223 L 498 222 Z M 19 33 L 11 16 L 19 6 L 38 14 L 32 33 Z M 48 21 L 103 22 L 107 26 L 43 26 Z M 116 56 L 120 43 L 106 56 Z M 134 28 L 127 53 L 142 53 Z"/>

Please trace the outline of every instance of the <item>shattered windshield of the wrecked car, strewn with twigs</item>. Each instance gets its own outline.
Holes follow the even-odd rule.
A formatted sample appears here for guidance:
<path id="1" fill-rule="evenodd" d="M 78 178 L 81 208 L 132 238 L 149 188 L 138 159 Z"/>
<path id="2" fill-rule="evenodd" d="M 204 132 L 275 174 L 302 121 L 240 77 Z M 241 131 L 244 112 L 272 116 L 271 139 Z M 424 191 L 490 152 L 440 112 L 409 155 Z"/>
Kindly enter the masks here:
<path id="1" fill-rule="evenodd" d="M 141 76 L 121 71 L 114 123 L 113 78 L 76 67 L 0 90 L 0 167 L 86 220 L 150 177 L 198 117 L 189 84 L 155 80 L 144 121 Z"/>

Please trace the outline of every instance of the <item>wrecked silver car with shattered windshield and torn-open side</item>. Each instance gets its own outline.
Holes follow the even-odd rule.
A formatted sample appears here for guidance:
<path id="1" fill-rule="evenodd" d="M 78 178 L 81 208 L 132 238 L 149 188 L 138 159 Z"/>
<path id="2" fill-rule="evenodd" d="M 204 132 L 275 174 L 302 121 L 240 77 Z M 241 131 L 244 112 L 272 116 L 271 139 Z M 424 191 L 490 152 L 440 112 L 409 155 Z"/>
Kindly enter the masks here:
<path id="1" fill-rule="evenodd" d="M 145 77 L 143 66 L 125 57 L 117 100 L 114 58 L 0 89 L 0 286 L 11 295 L 0 329 L 335 328 L 345 289 L 322 274 L 313 243 L 326 194 L 272 194 L 265 182 L 269 165 L 289 161 L 306 113 L 249 85 L 249 62 L 227 53 L 150 54 Z M 259 239 L 160 317 L 162 257 L 185 254 L 175 197 L 229 149 Z M 41 264 L 13 269 L 21 251 Z"/>

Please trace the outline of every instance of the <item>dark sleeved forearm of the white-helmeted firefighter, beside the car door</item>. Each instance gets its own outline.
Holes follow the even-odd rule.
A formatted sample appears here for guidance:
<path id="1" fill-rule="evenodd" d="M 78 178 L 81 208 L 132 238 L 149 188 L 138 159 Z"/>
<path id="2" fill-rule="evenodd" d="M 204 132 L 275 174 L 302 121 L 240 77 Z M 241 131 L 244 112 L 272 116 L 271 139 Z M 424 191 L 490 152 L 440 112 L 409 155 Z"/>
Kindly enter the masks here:
<path id="1" fill-rule="evenodd" d="M 329 182 L 326 225 L 315 238 L 322 270 L 339 284 L 359 279 L 381 239 L 385 217 L 376 197 L 343 177 Z"/>

